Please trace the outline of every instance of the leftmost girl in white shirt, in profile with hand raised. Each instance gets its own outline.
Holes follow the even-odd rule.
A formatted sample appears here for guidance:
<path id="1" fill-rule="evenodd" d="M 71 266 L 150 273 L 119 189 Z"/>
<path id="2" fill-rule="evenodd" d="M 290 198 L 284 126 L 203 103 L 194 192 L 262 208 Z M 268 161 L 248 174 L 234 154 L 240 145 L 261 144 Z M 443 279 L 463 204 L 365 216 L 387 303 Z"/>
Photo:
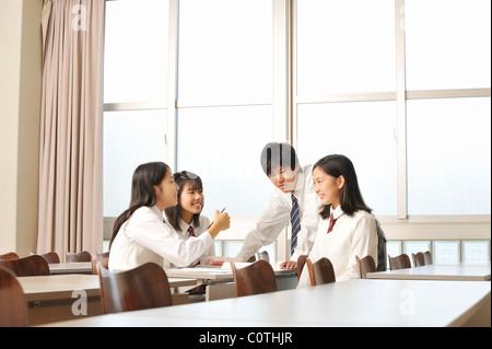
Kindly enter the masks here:
<path id="1" fill-rule="evenodd" d="M 215 211 L 206 233 L 186 241 L 164 221 L 162 212 L 177 203 L 178 186 L 163 162 L 142 164 L 133 173 L 128 210 L 115 221 L 109 244 L 109 269 L 127 270 L 153 261 L 163 267 L 189 266 L 229 229 L 227 213 Z"/>

